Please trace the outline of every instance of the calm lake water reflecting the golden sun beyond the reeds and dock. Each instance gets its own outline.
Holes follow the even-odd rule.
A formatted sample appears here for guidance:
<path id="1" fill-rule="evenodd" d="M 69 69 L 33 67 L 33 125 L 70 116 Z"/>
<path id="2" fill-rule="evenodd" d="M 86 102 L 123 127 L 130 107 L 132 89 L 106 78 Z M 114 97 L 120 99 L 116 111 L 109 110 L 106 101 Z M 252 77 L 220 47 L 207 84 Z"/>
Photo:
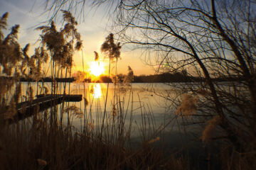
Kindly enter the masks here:
<path id="1" fill-rule="evenodd" d="M 36 96 L 37 92 L 40 94 L 43 90 L 41 86 L 37 88 L 37 83 L 31 83 L 31 85 L 34 89 L 33 96 Z M 198 86 L 198 83 L 193 85 Z M 50 94 L 51 83 L 45 83 L 43 86 L 49 89 L 48 94 Z M 59 83 L 58 86 L 61 86 L 58 94 L 63 93 L 63 83 Z M 178 88 L 174 88 L 174 86 L 178 86 Z M 22 84 L 23 95 L 26 94 L 27 87 L 27 83 Z M 84 123 L 87 122 L 95 126 L 94 130 L 99 130 L 104 113 L 106 113 L 105 124 L 112 125 L 122 119 L 124 130 L 129 130 L 131 127 L 130 137 L 134 146 L 144 140 L 151 140 L 154 132 L 159 132 L 159 129 L 164 128 L 161 133 L 154 135 L 154 137 L 161 137 L 161 140 L 154 145 L 161 143 L 161 147 L 164 147 L 166 152 L 169 152 L 170 149 L 174 152 L 184 149 L 189 152 L 191 157 L 201 157 L 202 160 L 206 157 L 207 149 L 203 147 L 200 138 L 196 138 L 201 137 L 202 134 L 200 125 L 184 126 L 183 119 L 176 116 L 176 106 L 179 105 L 176 102 L 177 98 L 180 99 L 180 95 L 189 89 L 185 83 L 171 84 L 171 86 L 161 83 L 131 84 L 131 86 L 119 86 L 119 88 L 116 86 L 116 88 L 115 90 L 114 84 L 70 83 L 69 86 L 67 83 L 66 94 L 68 91 L 70 94 L 82 94 L 82 101 L 65 102 L 64 106 L 59 104 L 57 106 L 58 118 L 63 113 L 63 125 L 67 125 L 68 114 L 65 113 L 65 109 L 75 106 L 82 114 L 76 115 L 70 111 L 69 117 L 73 129 L 80 131 L 85 125 Z M 114 98 L 114 96 L 118 97 Z M 85 106 L 85 98 L 88 101 L 87 106 Z M 204 99 L 201 98 L 201 100 Z M 117 115 L 113 115 L 114 108 L 117 109 Z M 48 113 L 50 113 L 50 109 L 48 109 Z M 119 115 L 120 113 L 122 116 Z M 188 121 L 192 121 L 192 119 L 188 118 Z M 23 121 L 31 122 L 29 118 Z M 203 167 L 206 166 L 205 162 L 200 164 Z"/>

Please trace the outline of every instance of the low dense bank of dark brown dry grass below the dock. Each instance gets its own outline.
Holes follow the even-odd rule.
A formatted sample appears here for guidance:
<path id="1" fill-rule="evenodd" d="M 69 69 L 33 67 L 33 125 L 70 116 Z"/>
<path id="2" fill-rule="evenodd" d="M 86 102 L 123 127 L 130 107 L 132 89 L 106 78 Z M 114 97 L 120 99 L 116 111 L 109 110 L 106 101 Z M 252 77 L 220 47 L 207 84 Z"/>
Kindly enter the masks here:
<path id="1" fill-rule="evenodd" d="M 50 115 L 57 109 L 48 109 L 35 113 L 30 119 L 1 126 L 1 169 L 188 169 L 183 159 L 176 159 L 174 154 L 166 156 L 164 149 L 151 145 L 159 138 L 142 137 L 145 140 L 133 147 L 130 139 L 132 113 L 127 113 L 131 120 L 126 125 L 128 128 L 124 128 L 126 110 L 122 110 L 124 106 L 120 98 L 114 97 L 120 103 L 116 106 L 117 113 L 108 113 L 103 126 L 99 120 L 90 123 L 89 117 L 85 124 L 80 124 L 82 130 L 60 123 L 59 116 L 50 120 Z M 66 112 L 64 109 L 63 114 Z M 68 119 L 78 112 L 79 109 L 70 106 Z M 87 113 L 91 115 L 90 111 Z M 145 115 L 142 113 L 142 117 Z"/>

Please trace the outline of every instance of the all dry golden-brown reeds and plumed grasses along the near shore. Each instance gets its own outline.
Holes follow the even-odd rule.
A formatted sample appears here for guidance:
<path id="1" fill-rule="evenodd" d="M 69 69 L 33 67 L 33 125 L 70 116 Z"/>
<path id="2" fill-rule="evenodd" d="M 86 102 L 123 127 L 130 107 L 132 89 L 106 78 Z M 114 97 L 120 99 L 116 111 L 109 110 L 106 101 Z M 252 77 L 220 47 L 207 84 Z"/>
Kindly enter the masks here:
<path id="1" fill-rule="evenodd" d="M 219 121 L 217 116 L 208 120 L 203 128 L 202 139 L 207 144 L 203 158 L 191 157 L 196 152 L 201 152 L 198 148 L 202 147 L 196 147 L 193 154 L 190 153 L 191 150 L 184 152 L 183 148 L 169 150 L 166 146 L 170 144 L 166 145 L 164 141 L 165 128 L 174 121 L 180 123 L 176 118 L 181 113 L 185 117 L 194 115 L 198 111 L 198 98 L 184 94 L 176 114 L 174 111 L 174 118 L 162 126 L 157 126 L 151 106 L 145 106 L 139 95 L 136 96 L 138 101 L 134 101 L 134 95 L 137 94 L 132 91 L 131 67 L 128 68 L 123 84 L 119 83 L 117 75 L 112 77 L 114 95 L 110 98 L 108 84 L 106 94 L 103 94 L 104 103 L 99 103 L 96 98 L 90 96 L 90 86 L 85 82 L 78 82 L 77 91 L 83 94 L 84 102 L 80 103 L 80 107 L 79 104 L 73 106 L 72 103 L 63 102 L 43 112 L 34 111 L 30 118 L 14 121 L 17 115 L 16 104 L 20 101 L 29 103 L 35 93 L 73 93 L 70 91 L 70 84 L 55 82 L 56 77 L 70 77 L 73 52 L 82 47 L 80 34 L 75 28 L 75 18 L 66 11 L 63 13 L 67 22 L 63 29 L 58 31 L 54 23 L 39 28 L 43 32 L 41 47 L 36 48 L 31 57 L 27 54 L 28 45 L 23 49 L 18 45 L 18 26 L 14 26 L 11 33 L 4 37 L 1 30 L 6 28 L 8 14 L 1 17 L 0 169 L 214 169 L 220 166 L 222 169 L 256 168 L 255 152 L 238 153 L 223 143 L 217 146 L 210 143 L 209 137 L 215 132 Z M 110 34 L 106 38 L 102 52 L 107 54 L 110 64 L 112 60 L 115 61 L 117 68 L 121 46 L 114 43 L 113 36 Z M 56 37 L 57 42 L 54 41 Z M 95 52 L 95 60 L 98 60 L 98 57 Z M 24 89 L 19 77 L 38 80 L 38 77 L 47 73 L 43 67 L 47 68 L 48 58 L 50 74 L 53 77 L 50 88 L 37 81 L 36 91 L 29 82 Z M 117 74 L 117 69 L 115 72 Z M 78 79 L 84 79 L 85 75 L 80 72 Z M 128 101 L 124 101 L 124 94 L 128 96 Z M 207 96 L 206 91 L 200 91 L 198 94 Z M 139 107 L 134 108 L 134 103 L 139 103 Z M 108 111 L 107 106 L 112 109 Z M 92 111 L 93 108 L 95 111 Z M 135 123 L 135 110 L 140 111 L 141 123 Z M 79 125 L 74 125 L 73 120 L 79 120 Z M 140 135 L 137 145 L 134 145 L 132 139 L 134 125 Z M 181 125 L 181 128 L 186 131 L 185 126 Z M 185 141 L 186 145 L 193 143 Z M 213 154 L 218 156 L 212 156 Z M 206 162 L 206 166 L 200 165 L 202 160 Z"/>

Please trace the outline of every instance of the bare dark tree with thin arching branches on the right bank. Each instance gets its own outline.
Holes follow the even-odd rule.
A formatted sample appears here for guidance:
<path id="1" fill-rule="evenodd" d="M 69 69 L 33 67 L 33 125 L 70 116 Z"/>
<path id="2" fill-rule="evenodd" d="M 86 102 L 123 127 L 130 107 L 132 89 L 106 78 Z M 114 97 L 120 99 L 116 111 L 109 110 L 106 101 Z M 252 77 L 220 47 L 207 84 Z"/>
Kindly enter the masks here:
<path id="1" fill-rule="evenodd" d="M 206 80 L 183 89 L 197 105 L 203 104 L 199 108 L 207 116 L 203 120 L 209 120 L 203 140 L 213 137 L 208 126 L 220 128 L 220 136 L 239 151 L 255 148 L 255 7 L 255 1 L 237 0 L 124 0 L 114 19 L 120 40 L 155 54 L 159 72 L 187 69 L 188 74 Z M 227 87 L 215 83 L 216 77 L 244 81 L 231 81 Z M 208 103 L 196 99 L 203 93 Z"/>

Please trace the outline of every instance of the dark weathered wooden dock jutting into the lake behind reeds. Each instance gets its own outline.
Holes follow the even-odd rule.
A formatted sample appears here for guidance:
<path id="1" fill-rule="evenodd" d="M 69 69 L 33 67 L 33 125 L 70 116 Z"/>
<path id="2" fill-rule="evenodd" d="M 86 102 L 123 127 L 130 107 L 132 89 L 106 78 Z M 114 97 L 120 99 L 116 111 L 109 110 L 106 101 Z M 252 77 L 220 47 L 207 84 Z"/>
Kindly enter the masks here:
<path id="1" fill-rule="evenodd" d="M 29 116 L 37 113 L 38 111 L 44 111 L 47 108 L 68 102 L 82 101 L 82 95 L 66 95 L 66 94 L 55 94 L 55 95 L 38 95 L 33 101 L 25 101 L 16 104 L 17 113 L 14 116 L 14 120 L 10 123 L 14 123 L 17 120 L 22 120 L 28 118 Z"/>

